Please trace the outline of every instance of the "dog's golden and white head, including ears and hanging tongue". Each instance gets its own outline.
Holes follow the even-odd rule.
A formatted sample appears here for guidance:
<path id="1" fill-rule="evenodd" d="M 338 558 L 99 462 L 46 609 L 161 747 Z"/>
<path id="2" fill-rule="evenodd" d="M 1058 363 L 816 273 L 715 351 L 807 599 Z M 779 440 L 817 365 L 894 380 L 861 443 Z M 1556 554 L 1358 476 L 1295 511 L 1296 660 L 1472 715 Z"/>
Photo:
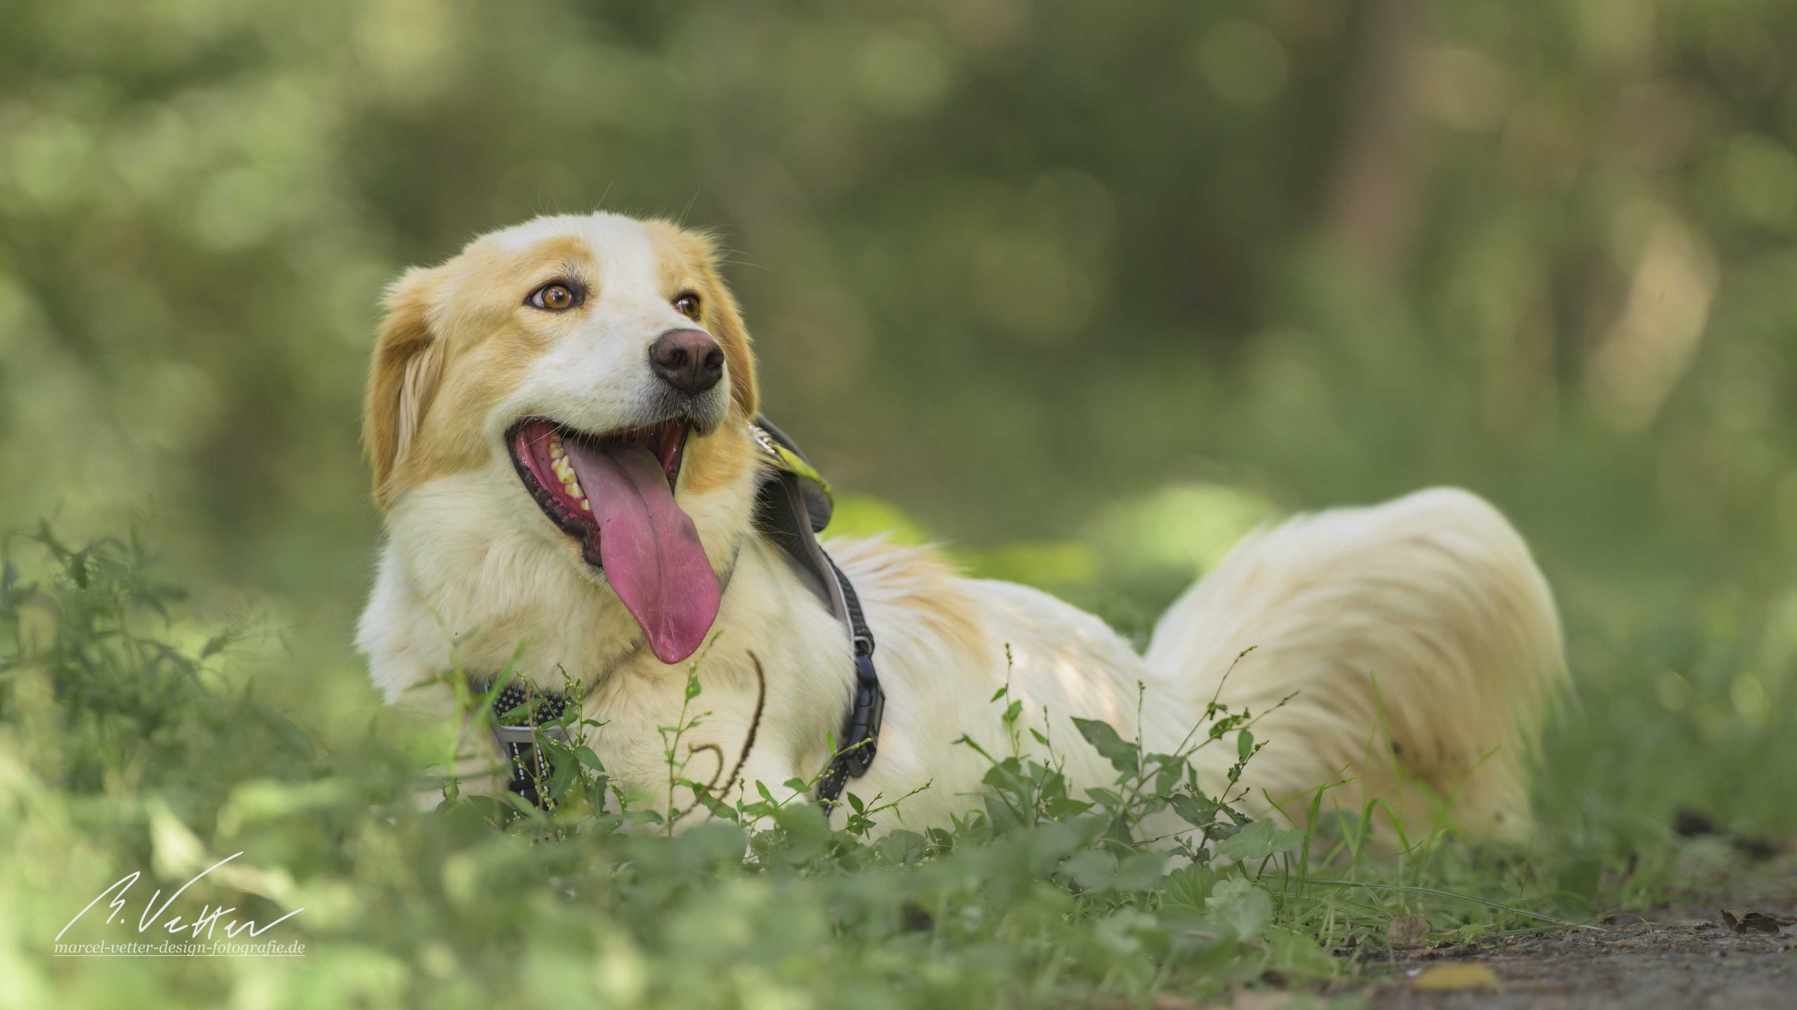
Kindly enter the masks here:
<path id="1" fill-rule="evenodd" d="M 690 656 L 719 607 L 699 523 L 726 519 L 704 500 L 753 467 L 757 408 L 712 243 L 665 221 L 539 217 L 408 271 L 386 309 L 363 426 L 376 501 L 451 480 L 512 496 L 487 512 L 609 586 L 661 661 Z"/>

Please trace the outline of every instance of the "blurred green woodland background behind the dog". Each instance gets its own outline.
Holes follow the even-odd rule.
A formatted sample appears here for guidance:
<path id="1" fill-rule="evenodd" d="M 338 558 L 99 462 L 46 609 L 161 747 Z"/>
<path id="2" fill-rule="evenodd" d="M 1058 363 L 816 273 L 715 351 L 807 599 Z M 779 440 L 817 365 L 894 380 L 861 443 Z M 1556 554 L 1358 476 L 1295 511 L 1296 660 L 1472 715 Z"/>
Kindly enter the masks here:
<path id="1" fill-rule="evenodd" d="M 0 525 L 142 527 L 372 699 L 381 286 L 553 210 L 724 235 L 843 527 L 1141 631 L 1427 483 L 1536 545 L 1544 809 L 1797 827 L 1797 7 L 13 0 Z M 1770 769 L 1770 771 L 1768 771 Z"/>

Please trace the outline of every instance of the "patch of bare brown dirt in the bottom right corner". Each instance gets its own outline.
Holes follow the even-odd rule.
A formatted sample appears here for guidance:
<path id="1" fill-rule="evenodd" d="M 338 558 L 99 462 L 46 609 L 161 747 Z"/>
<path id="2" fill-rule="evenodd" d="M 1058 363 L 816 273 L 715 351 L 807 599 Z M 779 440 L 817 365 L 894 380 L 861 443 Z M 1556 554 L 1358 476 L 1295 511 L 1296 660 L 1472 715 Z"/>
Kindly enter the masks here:
<path id="1" fill-rule="evenodd" d="M 1745 913 L 1759 913 L 1747 918 Z M 1734 924 L 1729 918 L 1734 918 Z M 1470 981 L 1483 965 L 1497 985 L 1429 990 L 1430 978 Z M 1619 917 L 1601 931 L 1526 936 L 1475 947 L 1420 951 L 1366 990 L 1384 1010 L 1558 1008 L 1797 1008 L 1797 877 L 1705 906 Z M 1456 972 L 1459 978 L 1456 979 Z"/>

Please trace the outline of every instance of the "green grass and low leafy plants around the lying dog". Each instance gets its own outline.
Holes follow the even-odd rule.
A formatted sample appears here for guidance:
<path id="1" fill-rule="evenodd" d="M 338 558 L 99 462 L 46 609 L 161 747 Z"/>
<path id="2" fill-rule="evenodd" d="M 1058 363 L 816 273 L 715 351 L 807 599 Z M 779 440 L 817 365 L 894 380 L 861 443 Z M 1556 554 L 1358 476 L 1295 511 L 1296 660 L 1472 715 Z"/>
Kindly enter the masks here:
<path id="1" fill-rule="evenodd" d="M 47 528 L 9 541 L 0 1003 L 1111 1006 L 1261 985 L 1333 992 L 1377 970 L 1400 915 L 1427 917 L 1436 942 L 1483 942 L 1578 929 L 1750 872 L 1734 846 L 1677 837 L 1669 805 L 1696 802 L 1739 830 L 1790 827 L 1788 811 L 1757 800 L 1763 785 L 1741 784 L 1738 800 L 1705 793 L 1747 767 L 1729 760 L 1788 755 L 1774 715 L 1788 699 L 1736 687 L 1765 654 L 1752 629 L 1671 638 L 1687 651 L 1693 672 L 1675 676 L 1689 695 L 1642 697 L 1617 687 L 1630 683 L 1621 672 L 1603 674 L 1677 669 L 1666 643 L 1646 658 L 1619 651 L 1587 676 L 1549 733 L 1544 830 L 1527 846 L 1438 832 L 1393 850 L 1373 841 L 1377 809 L 1323 812 L 1323 793 L 1306 832 L 1204 796 L 1195 749 L 1233 748 L 1240 773 L 1260 746 L 1254 713 L 1224 708 L 1172 755 L 1075 721 L 1039 742 L 1049 755 L 1098 748 L 1118 773 L 1109 789 L 1073 794 L 1053 758 L 1014 746 L 985 755 L 979 812 L 886 834 L 875 827 L 902 798 L 850 794 L 841 830 L 805 802 L 708 800 L 712 818 L 672 832 L 681 812 L 611 784 L 579 744 L 602 728 L 570 721 L 573 742 L 546 784 L 555 811 L 521 812 L 424 773 L 455 746 L 440 733 L 420 737 L 386 710 L 345 731 L 264 697 L 264 678 L 243 672 L 259 652 L 250 627 L 199 633 L 181 606 L 142 543 L 77 550 Z M 302 669 L 288 674 L 304 683 Z M 478 735 L 485 701 L 465 697 L 458 739 Z M 667 733 L 676 778 L 677 740 L 703 719 L 697 678 L 688 703 Z M 1001 690 L 994 719 L 1015 717 Z M 1704 733 L 1722 760 L 1693 760 L 1702 751 L 1687 744 Z M 1166 811 L 1209 841 L 1145 839 L 1143 820 Z M 259 924 L 304 909 L 264 935 L 304 944 L 302 960 L 50 956 L 110 882 L 144 873 L 119 922 L 101 922 L 101 906 L 70 940 L 137 938 L 146 891 L 173 891 L 235 852 L 180 906 L 230 906 Z M 165 922 L 151 935 L 167 936 Z"/>

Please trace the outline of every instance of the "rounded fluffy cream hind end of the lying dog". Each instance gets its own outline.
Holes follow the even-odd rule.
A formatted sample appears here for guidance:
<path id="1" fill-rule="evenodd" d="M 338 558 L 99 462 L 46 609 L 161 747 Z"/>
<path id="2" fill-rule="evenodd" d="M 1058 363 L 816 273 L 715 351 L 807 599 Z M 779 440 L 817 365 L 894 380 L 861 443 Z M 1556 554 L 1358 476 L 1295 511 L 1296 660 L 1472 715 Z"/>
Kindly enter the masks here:
<path id="1" fill-rule="evenodd" d="M 1310 793 L 1348 780 L 1324 809 L 1382 800 L 1412 839 L 1443 812 L 1461 830 L 1527 832 L 1531 757 L 1567 679 L 1540 568 L 1457 489 L 1253 536 L 1168 609 L 1146 661 L 1199 704 L 1220 692 L 1265 713 L 1244 803 L 1270 798 L 1301 821 Z"/>

